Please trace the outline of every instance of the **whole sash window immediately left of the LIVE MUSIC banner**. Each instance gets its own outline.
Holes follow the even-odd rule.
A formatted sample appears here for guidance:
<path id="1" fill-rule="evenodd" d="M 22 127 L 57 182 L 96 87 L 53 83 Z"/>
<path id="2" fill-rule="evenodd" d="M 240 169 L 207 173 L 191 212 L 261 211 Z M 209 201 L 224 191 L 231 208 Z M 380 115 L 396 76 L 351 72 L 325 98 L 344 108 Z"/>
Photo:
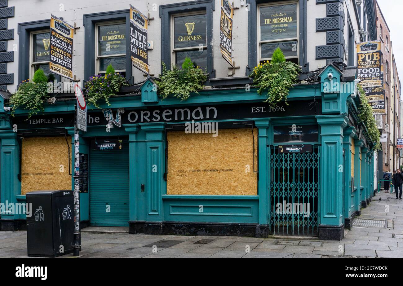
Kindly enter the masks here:
<path id="1" fill-rule="evenodd" d="M 116 72 L 126 71 L 126 24 L 124 21 L 96 25 L 96 73 L 112 64 Z"/>

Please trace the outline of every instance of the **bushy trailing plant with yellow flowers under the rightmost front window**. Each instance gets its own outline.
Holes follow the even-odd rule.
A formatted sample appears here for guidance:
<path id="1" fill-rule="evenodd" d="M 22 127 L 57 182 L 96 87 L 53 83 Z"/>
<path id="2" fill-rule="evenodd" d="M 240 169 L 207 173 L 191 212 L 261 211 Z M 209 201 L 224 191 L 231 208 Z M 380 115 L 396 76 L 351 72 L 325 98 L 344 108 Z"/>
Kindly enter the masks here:
<path id="1" fill-rule="evenodd" d="M 253 78 L 253 85 L 259 87 L 260 95 L 267 91 L 267 99 L 264 102 L 268 102 L 271 107 L 276 107 L 282 100 L 288 105 L 289 89 L 297 83 L 300 69 L 297 64 L 287 62 L 283 52 L 277 48 L 273 52 L 272 60 L 259 63 L 253 68 L 250 77 Z"/>

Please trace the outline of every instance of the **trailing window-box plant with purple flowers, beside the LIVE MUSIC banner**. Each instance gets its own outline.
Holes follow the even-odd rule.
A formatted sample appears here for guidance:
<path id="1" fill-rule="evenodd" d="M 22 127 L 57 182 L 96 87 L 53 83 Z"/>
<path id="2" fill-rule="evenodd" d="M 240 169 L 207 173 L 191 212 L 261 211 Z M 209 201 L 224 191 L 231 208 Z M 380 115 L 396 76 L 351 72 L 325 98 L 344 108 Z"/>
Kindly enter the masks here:
<path id="1" fill-rule="evenodd" d="M 100 108 L 97 104 L 100 99 L 104 99 L 106 104 L 110 105 L 109 97 L 115 96 L 123 85 L 129 84 L 123 75 L 115 73 L 112 64 L 110 64 L 106 68 L 105 75 L 93 75 L 85 83 L 87 101 L 96 108 Z"/>

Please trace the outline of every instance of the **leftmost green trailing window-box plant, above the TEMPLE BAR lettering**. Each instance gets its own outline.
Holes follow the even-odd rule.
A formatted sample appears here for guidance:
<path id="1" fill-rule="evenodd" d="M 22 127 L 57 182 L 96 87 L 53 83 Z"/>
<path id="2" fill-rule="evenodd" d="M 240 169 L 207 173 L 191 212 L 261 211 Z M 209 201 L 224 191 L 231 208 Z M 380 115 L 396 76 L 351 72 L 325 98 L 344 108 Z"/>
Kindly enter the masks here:
<path id="1" fill-rule="evenodd" d="M 49 97 L 49 80 L 51 79 L 39 68 L 35 71 L 32 81 L 29 79 L 23 81 L 17 92 L 9 99 L 11 115 L 14 116 L 15 110 L 19 107 L 28 110 L 28 118 L 39 112 L 44 112 L 44 101 Z"/>

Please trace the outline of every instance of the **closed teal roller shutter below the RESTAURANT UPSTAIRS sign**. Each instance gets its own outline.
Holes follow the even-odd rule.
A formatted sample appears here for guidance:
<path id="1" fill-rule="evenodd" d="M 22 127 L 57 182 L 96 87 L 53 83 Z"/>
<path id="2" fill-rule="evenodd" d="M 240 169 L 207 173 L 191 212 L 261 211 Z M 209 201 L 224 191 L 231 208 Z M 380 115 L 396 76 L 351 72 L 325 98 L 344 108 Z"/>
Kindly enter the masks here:
<path id="1" fill-rule="evenodd" d="M 90 151 L 89 216 L 93 226 L 129 226 L 129 148 Z M 110 212 L 107 212 L 107 205 Z"/>

